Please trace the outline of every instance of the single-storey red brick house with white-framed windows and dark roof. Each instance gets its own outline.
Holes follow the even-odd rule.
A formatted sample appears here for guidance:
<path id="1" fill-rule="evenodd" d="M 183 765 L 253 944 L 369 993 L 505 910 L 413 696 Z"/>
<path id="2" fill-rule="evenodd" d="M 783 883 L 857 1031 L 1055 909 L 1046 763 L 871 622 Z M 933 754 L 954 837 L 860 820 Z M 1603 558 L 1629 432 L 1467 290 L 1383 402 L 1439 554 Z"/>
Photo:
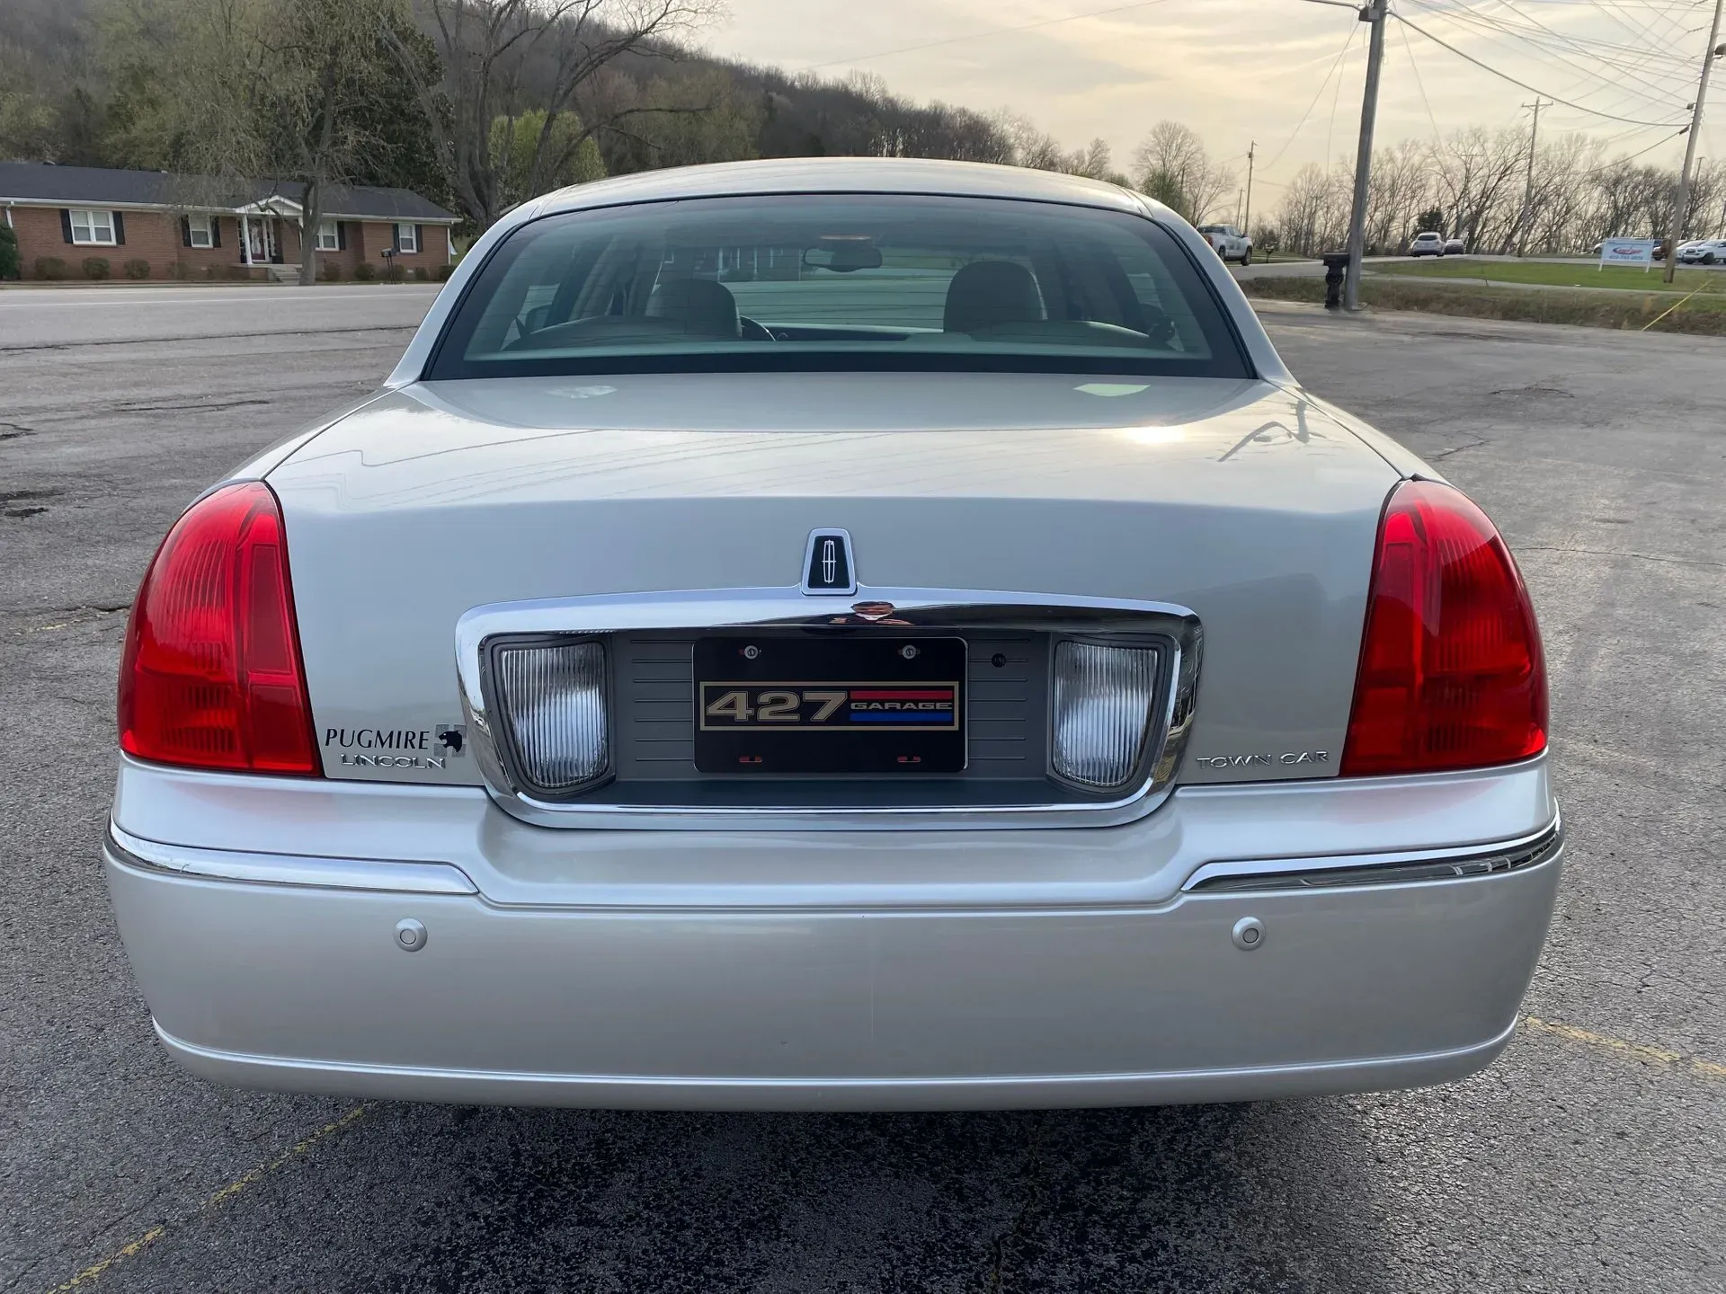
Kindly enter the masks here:
<path id="1" fill-rule="evenodd" d="M 140 278 L 297 278 L 304 186 L 109 171 L 93 166 L 0 162 L 0 219 L 17 235 L 24 278 L 38 261 L 64 262 L 64 278 L 85 278 L 85 259 L 102 257 L 110 278 L 126 264 Z M 399 264 L 437 276 L 456 259 L 457 217 L 406 188 L 331 185 L 318 226 L 319 274 L 354 278 Z"/>

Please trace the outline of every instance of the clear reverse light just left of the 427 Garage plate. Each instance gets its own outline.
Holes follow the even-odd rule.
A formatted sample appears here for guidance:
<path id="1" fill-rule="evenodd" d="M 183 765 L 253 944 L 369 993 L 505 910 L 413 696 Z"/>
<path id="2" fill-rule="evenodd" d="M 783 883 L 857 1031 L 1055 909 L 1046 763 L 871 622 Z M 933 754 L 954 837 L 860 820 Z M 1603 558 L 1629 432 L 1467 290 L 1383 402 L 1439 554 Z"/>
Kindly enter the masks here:
<path id="1" fill-rule="evenodd" d="M 568 792 L 604 776 L 606 650 L 597 642 L 499 647 L 497 683 L 521 776 Z"/>

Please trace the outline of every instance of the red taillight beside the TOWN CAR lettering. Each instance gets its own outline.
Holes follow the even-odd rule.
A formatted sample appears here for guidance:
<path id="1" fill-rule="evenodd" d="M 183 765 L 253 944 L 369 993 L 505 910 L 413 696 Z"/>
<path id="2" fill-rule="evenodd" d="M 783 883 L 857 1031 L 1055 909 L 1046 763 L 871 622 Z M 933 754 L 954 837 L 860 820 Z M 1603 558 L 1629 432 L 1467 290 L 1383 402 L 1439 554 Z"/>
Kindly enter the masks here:
<path id="1" fill-rule="evenodd" d="M 1545 749 L 1546 668 L 1510 550 L 1458 490 L 1405 481 L 1379 525 L 1343 776 Z"/>

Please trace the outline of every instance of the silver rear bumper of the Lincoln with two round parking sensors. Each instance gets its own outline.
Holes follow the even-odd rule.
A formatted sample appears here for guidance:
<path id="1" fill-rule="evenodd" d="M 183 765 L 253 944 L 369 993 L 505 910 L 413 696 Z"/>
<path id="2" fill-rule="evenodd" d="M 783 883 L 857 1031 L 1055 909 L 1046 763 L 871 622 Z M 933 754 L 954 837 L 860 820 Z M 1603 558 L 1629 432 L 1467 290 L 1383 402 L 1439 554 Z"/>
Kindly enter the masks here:
<path id="1" fill-rule="evenodd" d="M 1545 794 L 1543 766 L 1507 776 L 1531 775 Z M 243 780 L 211 778 L 212 802 L 233 782 Z M 1502 787 L 1471 799 L 1465 785 L 1450 783 L 1452 807 L 1510 813 Z M 1383 870 L 1433 851 L 1220 861 L 1229 852 L 1205 844 L 1210 857 L 1182 859 L 1175 837 L 1203 840 L 1206 813 L 1227 818 L 1263 794 L 1239 790 L 1229 804 L 1231 790 L 1193 797 L 1187 821 L 1177 795 L 1151 823 L 1125 828 L 875 833 L 899 837 L 884 859 L 930 851 L 918 871 L 935 876 L 965 857 L 998 875 L 1027 863 L 1001 852 L 1003 835 L 1034 849 L 1049 875 L 1094 873 L 1086 839 L 1108 837 L 1110 857 L 1117 847 L 1146 861 L 1175 852 L 1169 892 L 1144 882 L 1139 897 L 1117 902 L 1048 902 L 1036 887 L 1022 902 L 954 902 L 915 885 L 868 902 L 822 902 L 794 887 L 777 904 L 692 887 L 595 902 L 604 892 L 570 873 L 540 876 L 540 901 L 514 902 L 471 859 L 161 845 L 121 825 L 104 852 L 162 1040 L 195 1073 L 238 1085 L 507 1104 L 934 1109 L 1243 1101 L 1424 1085 L 1488 1065 L 1540 956 L 1557 840 L 1526 866 L 1448 880 Z M 1528 792 L 1510 797 L 1524 811 L 1538 799 Z M 1341 814 L 1336 835 L 1372 828 L 1348 821 L 1350 801 L 1334 787 L 1327 794 L 1326 813 Z M 1298 799 L 1300 788 L 1276 795 Z M 126 799 L 123 778 L 121 809 Z M 1351 801 L 1355 814 L 1372 806 Z M 735 840 L 547 832 L 476 807 L 480 839 L 468 845 L 495 854 L 504 845 L 487 833 L 554 837 L 564 856 L 590 854 L 583 876 L 630 863 L 642 873 L 761 866 L 728 852 Z M 257 823 L 264 839 L 268 826 Z M 1534 826 L 1555 833 L 1550 816 Z M 297 833 L 288 820 L 280 828 L 278 845 Z M 1457 828 L 1469 835 L 1467 823 Z M 1379 833 L 1402 844 L 1395 823 Z M 1490 844 L 1476 835 L 1471 856 L 1491 856 Z M 452 856 L 468 847 L 449 845 Z M 870 866 L 870 849 L 861 837 L 792 837 L 756 839 L 744 852 L 830 875 Z M 1291 866 L 1332 880 L 1277 889 Z M 1234 889 L 1205 889 L 1205 876 Z M 400 945 L 402 921 L 423 927 L 423 947 Z M 1257 923 L 1255 942 L 1238 937 L 1243 921 Z"/>

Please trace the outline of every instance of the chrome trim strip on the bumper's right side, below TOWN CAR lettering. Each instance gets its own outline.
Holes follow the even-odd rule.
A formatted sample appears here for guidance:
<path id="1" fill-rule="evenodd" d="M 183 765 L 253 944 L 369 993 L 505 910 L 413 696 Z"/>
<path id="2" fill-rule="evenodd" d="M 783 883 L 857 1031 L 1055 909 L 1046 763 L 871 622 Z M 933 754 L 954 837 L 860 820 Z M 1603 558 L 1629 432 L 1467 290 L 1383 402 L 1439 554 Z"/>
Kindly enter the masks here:
<path id="1" fill-rule="evenodd" d="M 1420 880 L 1496 876 L 1545 863 L 1564 845 L 1564 823 L 1552 823 L 1517 840 L 1464 849 L 1400 854 L 1343 854 L 1338 857 L 1282 857 L 1206 863 L 1181 887 L 1182 894 L 1239 890 L 1308 890 L 1341 885 L 1407 885 Z"/>

